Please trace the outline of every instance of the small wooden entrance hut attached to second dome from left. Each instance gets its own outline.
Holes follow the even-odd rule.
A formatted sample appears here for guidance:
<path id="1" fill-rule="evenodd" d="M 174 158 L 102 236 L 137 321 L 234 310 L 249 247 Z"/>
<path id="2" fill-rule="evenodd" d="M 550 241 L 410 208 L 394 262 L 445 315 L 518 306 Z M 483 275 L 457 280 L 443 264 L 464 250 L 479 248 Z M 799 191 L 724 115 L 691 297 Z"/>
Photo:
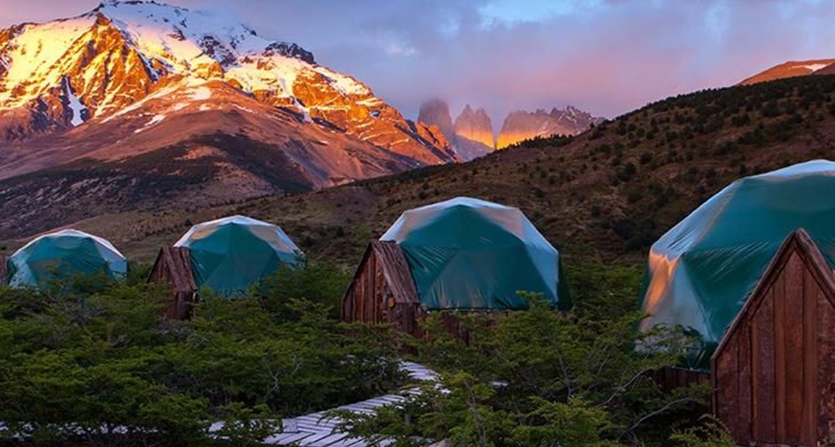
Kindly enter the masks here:
<path id="1" fill-rule="evenodd" d="M 186 247 L 164 246 L 159 249 L 148 282 L 166 283 L 171 290 L 171 303 L 165 315 L 177 320 L 191 316 L 192 303 L 197 301 L 197 285 L 191 270 L 191 255 Z"/>

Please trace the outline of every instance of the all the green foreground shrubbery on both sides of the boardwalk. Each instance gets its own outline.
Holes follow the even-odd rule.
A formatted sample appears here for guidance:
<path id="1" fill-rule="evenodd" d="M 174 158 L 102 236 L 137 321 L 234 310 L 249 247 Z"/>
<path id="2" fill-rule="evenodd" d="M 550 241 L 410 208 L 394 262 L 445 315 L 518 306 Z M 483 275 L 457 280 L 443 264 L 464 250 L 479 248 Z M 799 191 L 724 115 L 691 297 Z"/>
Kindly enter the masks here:
<path id="1" fill-rule="evenodd" d="M 636 333 L 640 268 L 569 266 L 571 312 L 529 296 L 527 312 L 462 315 L 468 343 L 445 333 L 438 315 L 422 340 L 339 323 L 347 277 L 328 264 L 282 269 L 235 300 L 204 292 L 188 322 L 162 317 L 167 292 L 146 285 L 145 273 L 0 290 L 3 439 L 260 444 L 281 417 L 397 389 L 405 378 L 395 347 L 405 343 L 440 384 L 377 416 L 342 414 L 357 436 L 461 447 L 726 445 L 700 419 L 708 389 L 669 394 L 650 379 L 692 341 Z M 635 350 L 648 338 L 655 348 Z M 210 430 L 215 422 L 220 431 Z"/>

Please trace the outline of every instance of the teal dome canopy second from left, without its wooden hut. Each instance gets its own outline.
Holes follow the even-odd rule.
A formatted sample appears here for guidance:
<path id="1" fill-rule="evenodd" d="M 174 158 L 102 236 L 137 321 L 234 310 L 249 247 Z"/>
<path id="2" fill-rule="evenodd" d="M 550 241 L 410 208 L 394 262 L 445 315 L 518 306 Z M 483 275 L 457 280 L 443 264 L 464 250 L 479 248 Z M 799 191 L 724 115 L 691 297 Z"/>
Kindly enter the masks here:
<path id="1" fill-rule="evenodd" d="M 197 287 L 225 297 L 245 292 L 304 256 L 279 226 L 231 216 L 192 226 L 175 246 L 188 247 Z"/>

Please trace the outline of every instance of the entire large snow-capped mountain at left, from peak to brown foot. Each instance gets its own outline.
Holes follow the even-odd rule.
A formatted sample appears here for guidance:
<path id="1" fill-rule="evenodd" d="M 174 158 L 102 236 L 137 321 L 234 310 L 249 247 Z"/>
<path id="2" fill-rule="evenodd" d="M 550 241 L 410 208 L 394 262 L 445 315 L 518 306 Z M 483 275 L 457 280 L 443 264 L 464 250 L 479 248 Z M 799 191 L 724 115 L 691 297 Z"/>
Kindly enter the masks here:
<path id="1" fill-rule="evenodd" d="M 108 1 L 0 31 L 7 236 L 458 160 L 357 79 L 212 13 Z"/>

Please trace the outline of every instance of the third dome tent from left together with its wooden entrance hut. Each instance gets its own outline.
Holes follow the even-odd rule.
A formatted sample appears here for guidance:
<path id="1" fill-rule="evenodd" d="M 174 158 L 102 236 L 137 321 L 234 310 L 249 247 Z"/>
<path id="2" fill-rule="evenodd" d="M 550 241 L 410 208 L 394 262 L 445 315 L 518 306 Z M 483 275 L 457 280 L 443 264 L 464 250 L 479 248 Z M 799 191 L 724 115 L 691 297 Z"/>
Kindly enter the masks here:
<path id="1" fill-rule="evenodd" d="M 343 297 L 342 318 L 414 333 L 419 312 L 524 309 L 519 292 L 567 308 L 564 286 L 559 251 L 522 211 L 456 197 L 403 212 L 371 242 Z"/>

